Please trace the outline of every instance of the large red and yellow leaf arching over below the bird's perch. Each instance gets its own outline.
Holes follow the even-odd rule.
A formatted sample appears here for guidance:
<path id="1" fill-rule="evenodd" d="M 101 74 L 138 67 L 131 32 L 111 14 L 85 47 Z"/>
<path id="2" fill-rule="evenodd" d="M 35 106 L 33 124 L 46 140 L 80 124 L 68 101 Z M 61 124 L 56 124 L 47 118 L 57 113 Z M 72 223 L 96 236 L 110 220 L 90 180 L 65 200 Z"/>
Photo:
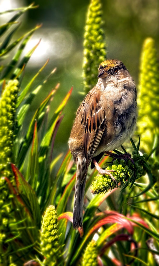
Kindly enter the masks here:
<path id="1" fill-rule="evenodd" d="M 127 223 L 127 220 L 125 219 L 124 215 L 122 217 L 118 216 L 118 215 L 109 215 L 103 219 L 101 219 L 100 221 L 98 221 L 90 230 L 89 232 L 86 234 L 85 238 L 83 239 L 80 247 L 78 248 L 77 252 L 75 253 L 71 263 L 73 263 L 77 257 L 79 256 L 79 254 L 82 252 L 82 249 L 85 245 L 85 243 L 87 242 L 87 240 L 90 238 L 90 236 L 94 235 L 95 232 L 103 225 L 106 225 L 108 223 L 113 223 L 112 226 L 110 226 L 107 230 L 105 230 L 105 234 L 104 232 L 102 233 L 102 236 L 100 236 L 97 240 L 98 245 L 100 246 L 101 243 L 104 241 L 104 239 L 106 239 L 108 236 L 110 236 L 111 234 L 114 234 L 116 231 L 125 228 L 127 229 L 127 231 L 129 232 L 129 234 L 133 234 L 133 227 L 131 225 L 131 223 Z"/>

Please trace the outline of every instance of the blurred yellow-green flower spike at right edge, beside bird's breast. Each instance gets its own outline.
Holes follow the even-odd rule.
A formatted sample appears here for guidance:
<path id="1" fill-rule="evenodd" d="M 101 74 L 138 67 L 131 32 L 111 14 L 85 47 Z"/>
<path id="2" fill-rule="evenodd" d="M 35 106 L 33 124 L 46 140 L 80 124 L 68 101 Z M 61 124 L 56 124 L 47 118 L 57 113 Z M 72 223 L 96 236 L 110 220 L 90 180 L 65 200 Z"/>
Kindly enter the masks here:
<path id="1" fill-rule="evenodd" d="M 147 38 L 143 44 L 138 88 L 137 131 L 141 137 L 141 148 L 148 152 L 159 127 L 159 65 L 152 38 Z"/>

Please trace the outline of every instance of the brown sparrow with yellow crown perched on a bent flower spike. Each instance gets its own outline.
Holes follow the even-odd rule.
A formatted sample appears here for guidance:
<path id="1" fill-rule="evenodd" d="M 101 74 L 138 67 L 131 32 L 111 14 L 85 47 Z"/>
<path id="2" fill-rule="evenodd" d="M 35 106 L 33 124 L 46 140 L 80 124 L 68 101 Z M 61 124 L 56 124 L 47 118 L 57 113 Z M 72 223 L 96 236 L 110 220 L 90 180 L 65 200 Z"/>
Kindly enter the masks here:
<path id="1" fill-rule="evenodd" d="M 73 207 L 73 228 L 82 227 L 83 201 L 88 167 L 98 165 L 104 153 L 119 148 L 135 131 L 137 94 L 135 83 L 119 60 L 105 60 L 99 65 L 98 82 L 77 110 L 69 138 L 69 148 L 77 165 Z"/>

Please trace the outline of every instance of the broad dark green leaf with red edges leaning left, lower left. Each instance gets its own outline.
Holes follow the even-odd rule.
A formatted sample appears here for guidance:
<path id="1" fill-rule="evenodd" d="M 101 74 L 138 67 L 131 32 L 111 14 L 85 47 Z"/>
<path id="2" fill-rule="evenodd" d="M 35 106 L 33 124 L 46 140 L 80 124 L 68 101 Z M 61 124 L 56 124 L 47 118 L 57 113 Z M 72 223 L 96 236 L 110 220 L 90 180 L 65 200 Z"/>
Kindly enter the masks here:
<path id="1" fill-rule="evenodd" d="M 14 164 L 11 164 L 12 171 L 16 180 L 16 188 L 18 190 L 19 196 L 22 198 L 25 206 L 29 210 L 33 221 L 40 228 L 41 215 L 40 207 L 35 194 L 35 191 L 24 179 L 23 175 L 19 172 L 18 168 Z"/>

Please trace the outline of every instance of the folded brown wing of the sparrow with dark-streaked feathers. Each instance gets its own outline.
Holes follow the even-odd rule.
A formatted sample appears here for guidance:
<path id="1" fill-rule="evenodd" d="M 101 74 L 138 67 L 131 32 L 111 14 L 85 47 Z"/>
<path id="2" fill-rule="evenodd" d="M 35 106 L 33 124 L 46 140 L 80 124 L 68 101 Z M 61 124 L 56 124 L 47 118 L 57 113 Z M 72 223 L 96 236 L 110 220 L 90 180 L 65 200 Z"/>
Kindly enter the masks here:
<path id="1" fill-rule="evenodd" d="M 106 127 L 106 111 L 100 106 L 98 89 L 94 88 L 82 103 L 81 123 L 85 126 L 83 148 L 87 164 L 96 152 Z"/>

